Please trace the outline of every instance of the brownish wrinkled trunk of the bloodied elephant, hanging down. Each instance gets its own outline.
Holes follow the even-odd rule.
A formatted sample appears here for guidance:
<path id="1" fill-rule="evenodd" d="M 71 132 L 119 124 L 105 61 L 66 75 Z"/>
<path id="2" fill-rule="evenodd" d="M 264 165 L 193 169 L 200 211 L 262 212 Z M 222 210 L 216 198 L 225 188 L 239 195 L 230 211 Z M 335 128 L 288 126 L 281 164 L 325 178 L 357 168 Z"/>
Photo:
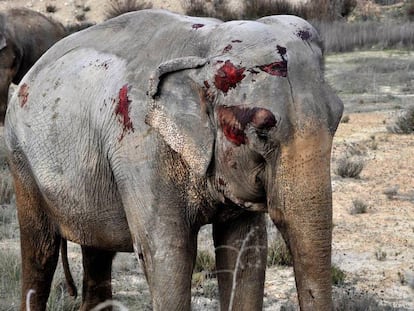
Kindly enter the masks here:
<path id="1" fill-rule="evenodd" d="M 326 129 L 281 146 L 269 214 L 292 253 L 301 310 L 332 310 L 332 194 Z"/>

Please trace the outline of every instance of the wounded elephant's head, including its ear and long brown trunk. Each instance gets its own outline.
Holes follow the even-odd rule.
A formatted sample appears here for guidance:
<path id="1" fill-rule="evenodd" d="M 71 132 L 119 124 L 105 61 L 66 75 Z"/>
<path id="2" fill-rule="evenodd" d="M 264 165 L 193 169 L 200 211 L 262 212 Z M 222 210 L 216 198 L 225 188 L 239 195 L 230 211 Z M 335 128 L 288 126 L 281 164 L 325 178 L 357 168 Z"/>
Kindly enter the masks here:
<path id="1" fill-rule="evenodd" d="M 222 24 L 214 56 L 160 65 L 147 122 L 218 201 L 269 213 L 301 309 L 331 310 L 330 154 L 343 105 L 324 81 L 316 31 L 294 17 L 259 21 Z"/>

